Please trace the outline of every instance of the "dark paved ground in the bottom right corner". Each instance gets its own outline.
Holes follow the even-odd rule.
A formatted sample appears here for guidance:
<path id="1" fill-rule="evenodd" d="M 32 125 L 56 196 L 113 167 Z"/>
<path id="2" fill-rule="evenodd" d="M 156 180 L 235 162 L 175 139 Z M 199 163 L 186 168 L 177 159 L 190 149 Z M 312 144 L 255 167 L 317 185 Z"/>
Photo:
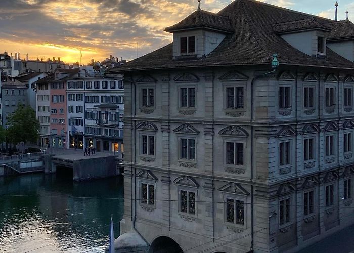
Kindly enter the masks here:
<path id="1" fill-rule="evenodd" d="M 354 219 L 354 217 L 353 217 Z M 354 252 L 354 225 L 344 228 L 298 253 L 351 253 Z"/>

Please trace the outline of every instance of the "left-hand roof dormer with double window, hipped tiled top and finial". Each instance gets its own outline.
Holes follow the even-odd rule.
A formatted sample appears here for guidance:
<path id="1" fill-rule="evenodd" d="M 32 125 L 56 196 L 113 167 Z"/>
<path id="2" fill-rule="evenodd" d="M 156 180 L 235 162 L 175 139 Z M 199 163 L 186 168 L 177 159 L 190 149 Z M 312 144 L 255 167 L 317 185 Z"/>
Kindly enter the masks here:
<path id="1" fill-rule="evenodd" d="M 234 31 L 229 18 L 198 9 L 179 23 L 166 27 L 173 33 L 173 59 L 208 55 Z"/>

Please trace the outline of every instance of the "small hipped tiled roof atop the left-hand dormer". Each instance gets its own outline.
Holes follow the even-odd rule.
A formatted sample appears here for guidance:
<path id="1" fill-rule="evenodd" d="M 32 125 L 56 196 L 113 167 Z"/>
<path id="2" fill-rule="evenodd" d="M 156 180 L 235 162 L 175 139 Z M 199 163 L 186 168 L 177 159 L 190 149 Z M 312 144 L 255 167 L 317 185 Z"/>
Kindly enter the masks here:
<path id="1" fill-rule="evenodd" d="M 200 8 L 179 23 L 166 27 L 165 31 L 173 32 L 196 28 L 216 29 L 227 33 L 234 31 L 228 17 L 207 12 Z"/>

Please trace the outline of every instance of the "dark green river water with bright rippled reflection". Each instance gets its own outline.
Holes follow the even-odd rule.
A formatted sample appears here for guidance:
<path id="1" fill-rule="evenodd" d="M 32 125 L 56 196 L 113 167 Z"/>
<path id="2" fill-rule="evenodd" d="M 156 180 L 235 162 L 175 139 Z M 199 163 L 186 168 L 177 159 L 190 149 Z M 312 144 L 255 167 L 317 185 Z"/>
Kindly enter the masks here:
<path id="1" fill-rule="evenodd" d="M 57 174 L 0 177 L 0 252 L 104 252 L 111 214 L 119 236 L 121 178 L 73 182 Z"/>

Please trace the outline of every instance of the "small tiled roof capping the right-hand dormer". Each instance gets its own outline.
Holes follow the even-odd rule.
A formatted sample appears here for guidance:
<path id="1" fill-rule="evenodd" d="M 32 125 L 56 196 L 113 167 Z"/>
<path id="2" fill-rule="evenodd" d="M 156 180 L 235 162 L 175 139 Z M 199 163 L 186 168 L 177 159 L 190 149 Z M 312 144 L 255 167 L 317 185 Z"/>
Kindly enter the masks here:
<path id="1" fill-rule="evenodd" d="M 332 30 L 331 28 L 316 21 L 313 17 L 308 19 L 295 20 L 291 22 L 277 23 L 277 24 L 273 24 L 272 27 L 275 33 L 286 33 L 286 32 L 301 31 L 301 30 L 313 30 L 313 29 L 320 29 L 325 31 Z"/>

